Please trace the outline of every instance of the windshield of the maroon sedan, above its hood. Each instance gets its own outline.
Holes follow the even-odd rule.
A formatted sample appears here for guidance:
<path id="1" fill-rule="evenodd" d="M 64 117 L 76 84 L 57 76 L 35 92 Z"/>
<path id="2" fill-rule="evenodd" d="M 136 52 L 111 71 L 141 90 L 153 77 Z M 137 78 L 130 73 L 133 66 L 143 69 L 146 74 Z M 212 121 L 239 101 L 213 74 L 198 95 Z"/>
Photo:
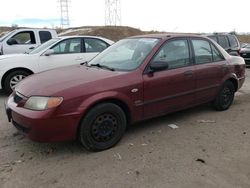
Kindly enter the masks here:
<path id="1" fill-rule="evenodd" d="M 156 38 L 123 39 L 91 60 L 88 65 L 99 65 L 120 71 L 131 71 L 141 65 L 158 43 Z"/>

